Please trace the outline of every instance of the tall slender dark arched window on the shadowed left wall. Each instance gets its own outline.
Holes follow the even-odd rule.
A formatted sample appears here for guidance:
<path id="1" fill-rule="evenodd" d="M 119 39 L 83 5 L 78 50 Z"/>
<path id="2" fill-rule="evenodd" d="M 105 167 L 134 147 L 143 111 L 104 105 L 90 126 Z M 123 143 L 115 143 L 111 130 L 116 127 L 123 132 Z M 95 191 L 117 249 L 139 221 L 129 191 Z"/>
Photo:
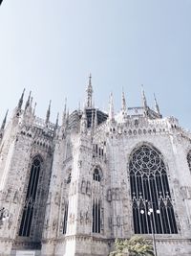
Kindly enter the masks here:
<path id="1" fill-rule="evenodd" d="M 34 210 L 34 204 L 36 199 L 37 185 L 39 179 L 39 173 L 41 169 L 42 160 L 36 156 L 32 161 L 32 168 L 30 174 L 30 180 L 27 189 L 27 195 L 25 199 L 25 205 L 23 209 L 23 215 L 21 219 L 19 236 L 29 237 L 32 227 L 32 216 Z"/>

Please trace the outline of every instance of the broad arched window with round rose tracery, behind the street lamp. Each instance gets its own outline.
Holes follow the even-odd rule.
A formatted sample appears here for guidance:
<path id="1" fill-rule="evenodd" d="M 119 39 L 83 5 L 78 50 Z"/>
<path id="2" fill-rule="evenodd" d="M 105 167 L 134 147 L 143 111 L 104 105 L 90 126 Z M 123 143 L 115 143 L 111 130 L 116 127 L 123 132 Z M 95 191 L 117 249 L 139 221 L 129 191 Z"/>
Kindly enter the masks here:
<path id="1" fill-rule="evenodd" d="M 158 234 L 178 233 L 161 153 L 146 145 L 139 147 L 130 157 L 129 172 L 135 233 L 148 234 L 152 229 Z"/>

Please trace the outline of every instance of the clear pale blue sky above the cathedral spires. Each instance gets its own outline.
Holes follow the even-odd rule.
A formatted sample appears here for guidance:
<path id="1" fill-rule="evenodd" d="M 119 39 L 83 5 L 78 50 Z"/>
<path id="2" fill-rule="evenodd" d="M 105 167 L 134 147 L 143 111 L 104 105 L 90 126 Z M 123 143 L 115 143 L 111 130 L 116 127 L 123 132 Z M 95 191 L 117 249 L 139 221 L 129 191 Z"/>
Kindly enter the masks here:
<path id="1" fill-rule="evenodd" d="M 85 98 L 89 73 L 96 106 L 149 105 L 191 128 L 191 0 L 4 0 L 0 6 L 0 119 L 23 88 L 45 117 Z M 10 113 L 11 115 L 11 113 Z"/>

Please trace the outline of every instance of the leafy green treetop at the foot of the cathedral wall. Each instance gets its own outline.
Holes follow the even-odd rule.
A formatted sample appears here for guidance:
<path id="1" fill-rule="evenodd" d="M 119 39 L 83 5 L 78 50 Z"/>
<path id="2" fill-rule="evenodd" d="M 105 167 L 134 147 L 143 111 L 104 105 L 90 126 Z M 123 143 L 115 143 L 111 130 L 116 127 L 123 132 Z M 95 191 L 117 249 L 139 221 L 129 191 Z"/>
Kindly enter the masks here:
<path id="1" fill-rule="evenodd" d="M 154 256 L 153 245 L 141 236 L 130 240 L 116 240 L 115 250 L 109 256 Z"/>

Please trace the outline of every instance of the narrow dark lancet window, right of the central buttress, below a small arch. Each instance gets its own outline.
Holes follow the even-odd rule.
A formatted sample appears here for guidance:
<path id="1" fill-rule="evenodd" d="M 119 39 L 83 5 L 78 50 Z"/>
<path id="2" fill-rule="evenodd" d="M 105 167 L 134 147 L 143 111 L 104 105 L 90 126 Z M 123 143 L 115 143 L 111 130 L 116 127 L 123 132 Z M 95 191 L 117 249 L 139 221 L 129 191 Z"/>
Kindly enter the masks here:
<path id="1" fill-rule="evenodd" d="M 98 198 L 95 198 L 93 202 L 93 233 L 100 233 L 100 214 L 100 200 Z"/>

